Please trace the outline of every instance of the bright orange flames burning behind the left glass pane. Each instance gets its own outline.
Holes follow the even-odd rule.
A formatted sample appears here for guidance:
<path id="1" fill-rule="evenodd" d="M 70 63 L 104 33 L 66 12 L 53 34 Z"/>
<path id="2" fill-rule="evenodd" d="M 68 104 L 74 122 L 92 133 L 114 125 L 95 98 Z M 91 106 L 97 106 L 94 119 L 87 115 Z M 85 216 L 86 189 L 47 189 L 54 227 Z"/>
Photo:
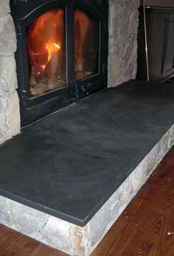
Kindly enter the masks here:
<path id="1" fill-rule="evenodd" d="M 60 72 L 64 41 L 64 10 L 52 10 L 38 17 L 28 32 L 29 63 L 34 77 Z"/>

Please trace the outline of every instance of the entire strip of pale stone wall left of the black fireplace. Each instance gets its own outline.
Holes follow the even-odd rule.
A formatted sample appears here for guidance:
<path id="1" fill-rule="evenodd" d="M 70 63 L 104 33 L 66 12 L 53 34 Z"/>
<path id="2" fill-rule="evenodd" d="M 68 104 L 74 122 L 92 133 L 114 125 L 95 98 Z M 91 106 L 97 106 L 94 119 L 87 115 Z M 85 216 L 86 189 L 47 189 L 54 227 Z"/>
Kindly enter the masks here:
<path id="1" fill-rule="evenodd" d="M 9 0 L 0 0 L 0 144 L 20 131 L 15 50 L 15 27 Z"/>

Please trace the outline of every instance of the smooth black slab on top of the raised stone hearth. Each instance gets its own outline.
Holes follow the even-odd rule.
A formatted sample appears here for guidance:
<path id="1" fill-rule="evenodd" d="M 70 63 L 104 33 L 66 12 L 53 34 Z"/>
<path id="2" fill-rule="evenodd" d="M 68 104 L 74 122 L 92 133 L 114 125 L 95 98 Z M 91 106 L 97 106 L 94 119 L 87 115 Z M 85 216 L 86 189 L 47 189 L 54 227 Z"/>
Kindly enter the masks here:
<path id="1" fill-rule="evenodd" d="M 174 87 L 132 80 L 1 145 L 0 194 L 84 226 L 174 123 Z"/>

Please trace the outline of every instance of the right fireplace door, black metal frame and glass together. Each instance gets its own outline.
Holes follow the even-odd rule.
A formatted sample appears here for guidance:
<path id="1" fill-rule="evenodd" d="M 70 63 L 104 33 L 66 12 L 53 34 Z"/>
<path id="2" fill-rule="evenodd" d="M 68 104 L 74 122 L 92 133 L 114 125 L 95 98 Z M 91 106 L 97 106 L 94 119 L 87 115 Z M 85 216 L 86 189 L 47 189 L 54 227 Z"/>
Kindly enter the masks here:
<path id="1" fill-rule="evenodd" d="M 104 23 L 97 12 L 74 7 L 74 81 L 77 101 L 105 88 L 107 84 L 107 47 L 103 47 L 107 34 L 103 33 Z M 107 40 L 106 40 L 107 41 Z M 106 45 L 104 43 L 104 45 Z"/>

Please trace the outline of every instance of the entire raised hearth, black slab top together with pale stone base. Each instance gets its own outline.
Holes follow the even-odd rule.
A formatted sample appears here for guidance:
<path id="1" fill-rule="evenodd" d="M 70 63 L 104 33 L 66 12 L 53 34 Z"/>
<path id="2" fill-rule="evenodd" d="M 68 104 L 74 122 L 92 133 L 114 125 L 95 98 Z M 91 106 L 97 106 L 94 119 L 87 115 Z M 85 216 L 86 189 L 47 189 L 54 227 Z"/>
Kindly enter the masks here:
<path id="1" fill-rule="evenodd" d="M 0 148 L 0 222 L 89 255 L 174 142 L 174 88 L 132 80 Z"/>

